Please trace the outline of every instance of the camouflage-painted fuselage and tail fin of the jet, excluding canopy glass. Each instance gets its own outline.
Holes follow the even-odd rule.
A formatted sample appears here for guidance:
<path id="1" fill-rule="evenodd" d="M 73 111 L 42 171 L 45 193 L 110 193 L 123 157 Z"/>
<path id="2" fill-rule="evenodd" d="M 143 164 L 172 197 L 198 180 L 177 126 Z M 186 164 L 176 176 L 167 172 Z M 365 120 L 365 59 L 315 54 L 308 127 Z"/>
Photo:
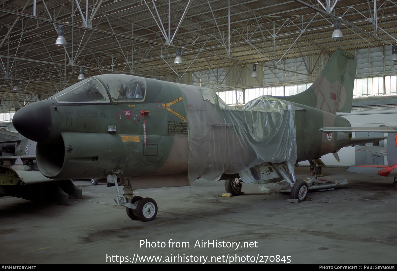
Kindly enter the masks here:
<path id="1" fill-rule="evenodd" d="M 296 144 L 294 156 L 280 158 L 267 151 L 269 146 L 260 147 L 259 144 L 256 151 L 262 148 L 259 151 L 270 157 L 262 161 L 281 163 L 291 157 L 293 162 L 314 159 L 348 145 L 349 134 L 333 133 L 329 140 L 319 130 L 324 126 L 350 126 L 345 118 L 334 113 L 350 110 L 354 73 L 354 57 L 337 50 L 308 90 L 289 97 L 260 98 L 270 101 L 269 104 L 280 103 L 285 108 L 293 108 L 288 109 L 295 112 L 291 111 L 291 116 L 295 114 L 295 117 L 288 125 L 293 126 L 294 133 L 296 130 L 296 142 L 276 142 Z M 117 80 L 121 75 L 111 76 Z M 94 76 L 98 80 L 105 77 L 109 75 Z M 137 78 L 130 77 L 131 80 Z M 249 120 L 246 124 L 239 121 L 239 131 L 245 130 L 247 124 L 256 125 L 257 118 L 247 118 L 247 110 L 225 106 L 208 89 L 147 78 L 143 80 L 146 82 L 146 94 L 142 101 L 58 102 L 56 97 L 70 90 L 67 88 L 49 99 L 20 109 L 13 118 L 13 124 L 21 134 L 38 141 L 37 164 L 40 172 L 53 179 L 102 178 L 112 170 L 122 170 L 120 177 L 188 178 L 189 172 L 190 180 L 194 180 L 201 174 L 211 176 L 214 169 L 216 174 L 219 170 L 222 170 L 220 174 L 238 173 L 242 168 L 254 166 L 250 161 L 258 161 L 252 158 L 258 153 L 245 148 L 252 137 L 233 133 L 237 125 L 234 120 Z M 103 87 L 111 96 L 109 84 L 105 82 Z M 75 100 L 78 101 L 78 97 Z M 144 111 L 148 113 L 145 115 Z M 263 112 L 266 113 L 266 109 Z M 197 116 L 195 121 L 191 116 Z M 192 130 L 192 125 L 198 132 L 207 127 L 197 123 L 201 117 L 211 119 L 207 123 L 210 124 L 210 133 L 224 135 L 211 137 L 214 141 L 211 144 L 219 146 L 218 149 L 208 150 L 200 146 L 199 141 L 192 142 L 191 133 L 196 132 Z M 265 123 L 261 125 L 266 128 Z M 114 126 L 115 131 L 112 127 L 109 130 L 109 126 Z M 249 129 L 247 131 L 249 134 Z M 277 131 L 273 132 L 277 134 Z M 239 145 L 231 150 L 231 142 L 238 142 Z M 205 141 L 202 143 L 206 144 Z M 202 153 L 200 147 L 203 147 Z M 165 181 L 162 186 L 167 185 Z"/>

